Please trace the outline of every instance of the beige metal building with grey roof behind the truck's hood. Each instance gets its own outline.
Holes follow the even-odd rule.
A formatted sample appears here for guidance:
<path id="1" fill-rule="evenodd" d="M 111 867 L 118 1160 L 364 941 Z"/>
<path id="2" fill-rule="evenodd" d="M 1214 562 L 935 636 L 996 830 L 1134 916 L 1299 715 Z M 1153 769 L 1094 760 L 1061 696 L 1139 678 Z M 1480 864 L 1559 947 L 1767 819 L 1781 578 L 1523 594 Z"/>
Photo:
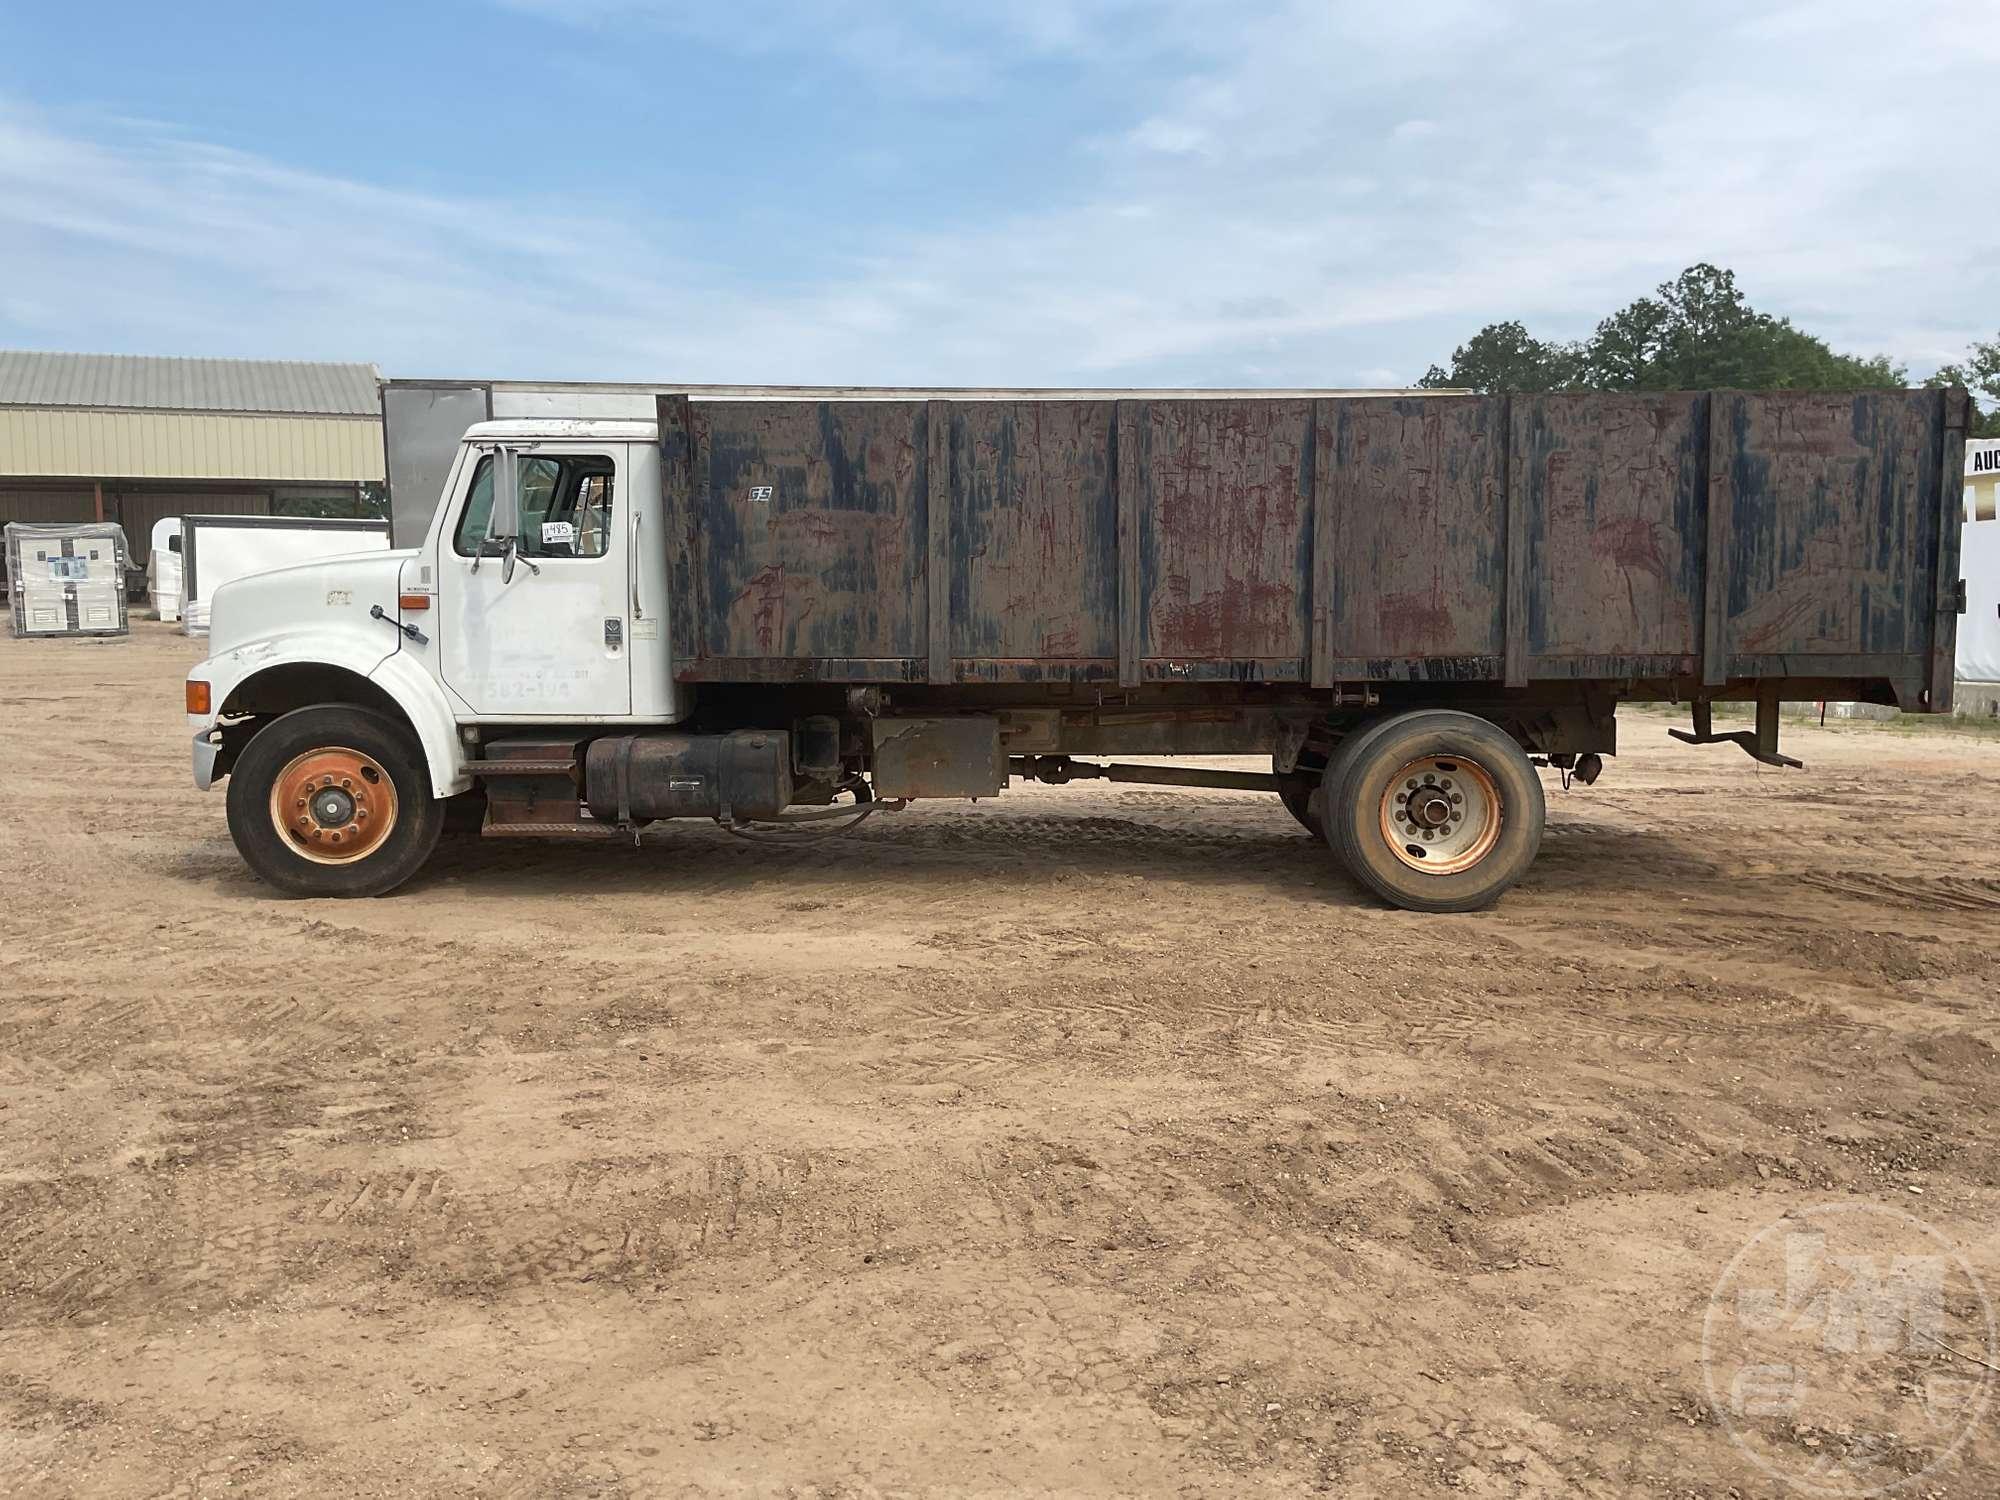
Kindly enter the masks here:
<path id="1" fill-rule="evenodd" d="M 372 364 L 0 350 L 0 522 L 352 516 L 380 486 Z"/>

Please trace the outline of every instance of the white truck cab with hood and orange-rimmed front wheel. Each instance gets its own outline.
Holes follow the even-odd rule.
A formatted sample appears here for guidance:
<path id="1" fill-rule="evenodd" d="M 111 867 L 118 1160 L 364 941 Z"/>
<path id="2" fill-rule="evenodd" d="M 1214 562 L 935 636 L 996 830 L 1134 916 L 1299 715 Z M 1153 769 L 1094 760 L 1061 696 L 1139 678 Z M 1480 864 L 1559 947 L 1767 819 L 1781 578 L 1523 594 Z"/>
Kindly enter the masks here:
<path id="1" fill-rule="evenodd" d="M 642 546 L 658 496 L 652 422 L 482 422 L 414 550 L 218 590 L 188 674 L 194 780 L 236 772 L 250 864 L 300 894 L 388 888 L 472 788 L 480 726 L 678 720 L 666 550 Z M 244 766 L 252 746 L 288 754 Z"/>

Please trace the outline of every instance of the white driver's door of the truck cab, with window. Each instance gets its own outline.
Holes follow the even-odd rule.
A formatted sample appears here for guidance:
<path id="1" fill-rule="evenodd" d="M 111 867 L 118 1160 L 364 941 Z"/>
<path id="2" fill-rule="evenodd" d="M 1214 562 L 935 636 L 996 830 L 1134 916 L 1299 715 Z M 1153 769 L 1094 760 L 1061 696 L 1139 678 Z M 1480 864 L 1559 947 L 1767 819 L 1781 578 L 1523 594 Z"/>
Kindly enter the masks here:
<path id="1" fill-rule="evenodd" d="M 632 712 L 624 444 L 514 448 L 512 578 L 488 538 L 496 454 L 484 450 L 438 546 L 438 670 L 478 718 Z"/>

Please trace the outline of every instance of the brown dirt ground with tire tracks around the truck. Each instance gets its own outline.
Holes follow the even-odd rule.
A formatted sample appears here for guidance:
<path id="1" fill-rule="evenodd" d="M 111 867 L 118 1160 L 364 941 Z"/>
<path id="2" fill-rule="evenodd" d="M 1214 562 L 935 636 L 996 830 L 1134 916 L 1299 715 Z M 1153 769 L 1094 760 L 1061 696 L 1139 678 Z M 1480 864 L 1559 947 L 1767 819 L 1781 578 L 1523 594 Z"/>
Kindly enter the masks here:
<path id="1" fill-rule="evenodd" d="M 1760 1496 L 1948 1448 L 1838 1370 L 1724 1420 L 1704 1328 L 1822 1204 L 2000 1296 L 2000 740 L 1774 772 L 1628 714 L 1460 918 L 1276 798 L 1092 786 L 290 902 L 188 780 L 198 654 L 0 640 L 6 1494 Z M 1892 1390 L 1994 1384 L 1980 1316 L 1958 1276 Z M 2000 1492 L 1992 1408 L 1906 1492 Z"/>

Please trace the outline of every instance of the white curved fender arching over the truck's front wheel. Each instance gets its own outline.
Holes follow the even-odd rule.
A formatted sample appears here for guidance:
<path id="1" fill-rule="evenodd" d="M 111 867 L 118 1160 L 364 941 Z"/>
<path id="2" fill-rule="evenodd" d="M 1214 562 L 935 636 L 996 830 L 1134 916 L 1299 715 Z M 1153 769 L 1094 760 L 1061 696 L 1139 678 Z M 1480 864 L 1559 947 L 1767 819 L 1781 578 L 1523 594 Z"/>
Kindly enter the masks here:
<path id="1" fill-rule="evenodd" d="M 210 684 L 210 712 L 188 714 L 188 730 L 196 740 L 206 740 L 224 714 L 236 712 L 248 700 L 260 678 L 298 668 L 332 668 L 336 674 L 372 684 L 402 712 L 424 750 L 434 796 L 446 798 L 468 790 L 472 778 L 464 770 L 458 720 L 444 690 L 430 672 L 398 650 L 394 638 L 384 640 L 388 632 L 378 622 L 370 624 L 374 630 L 368 632 L 326 626 L 284 632 L 210 656 L 188 672 L 190 682 Z M 340 696 L 318 702 L 340 702 Z"/>

